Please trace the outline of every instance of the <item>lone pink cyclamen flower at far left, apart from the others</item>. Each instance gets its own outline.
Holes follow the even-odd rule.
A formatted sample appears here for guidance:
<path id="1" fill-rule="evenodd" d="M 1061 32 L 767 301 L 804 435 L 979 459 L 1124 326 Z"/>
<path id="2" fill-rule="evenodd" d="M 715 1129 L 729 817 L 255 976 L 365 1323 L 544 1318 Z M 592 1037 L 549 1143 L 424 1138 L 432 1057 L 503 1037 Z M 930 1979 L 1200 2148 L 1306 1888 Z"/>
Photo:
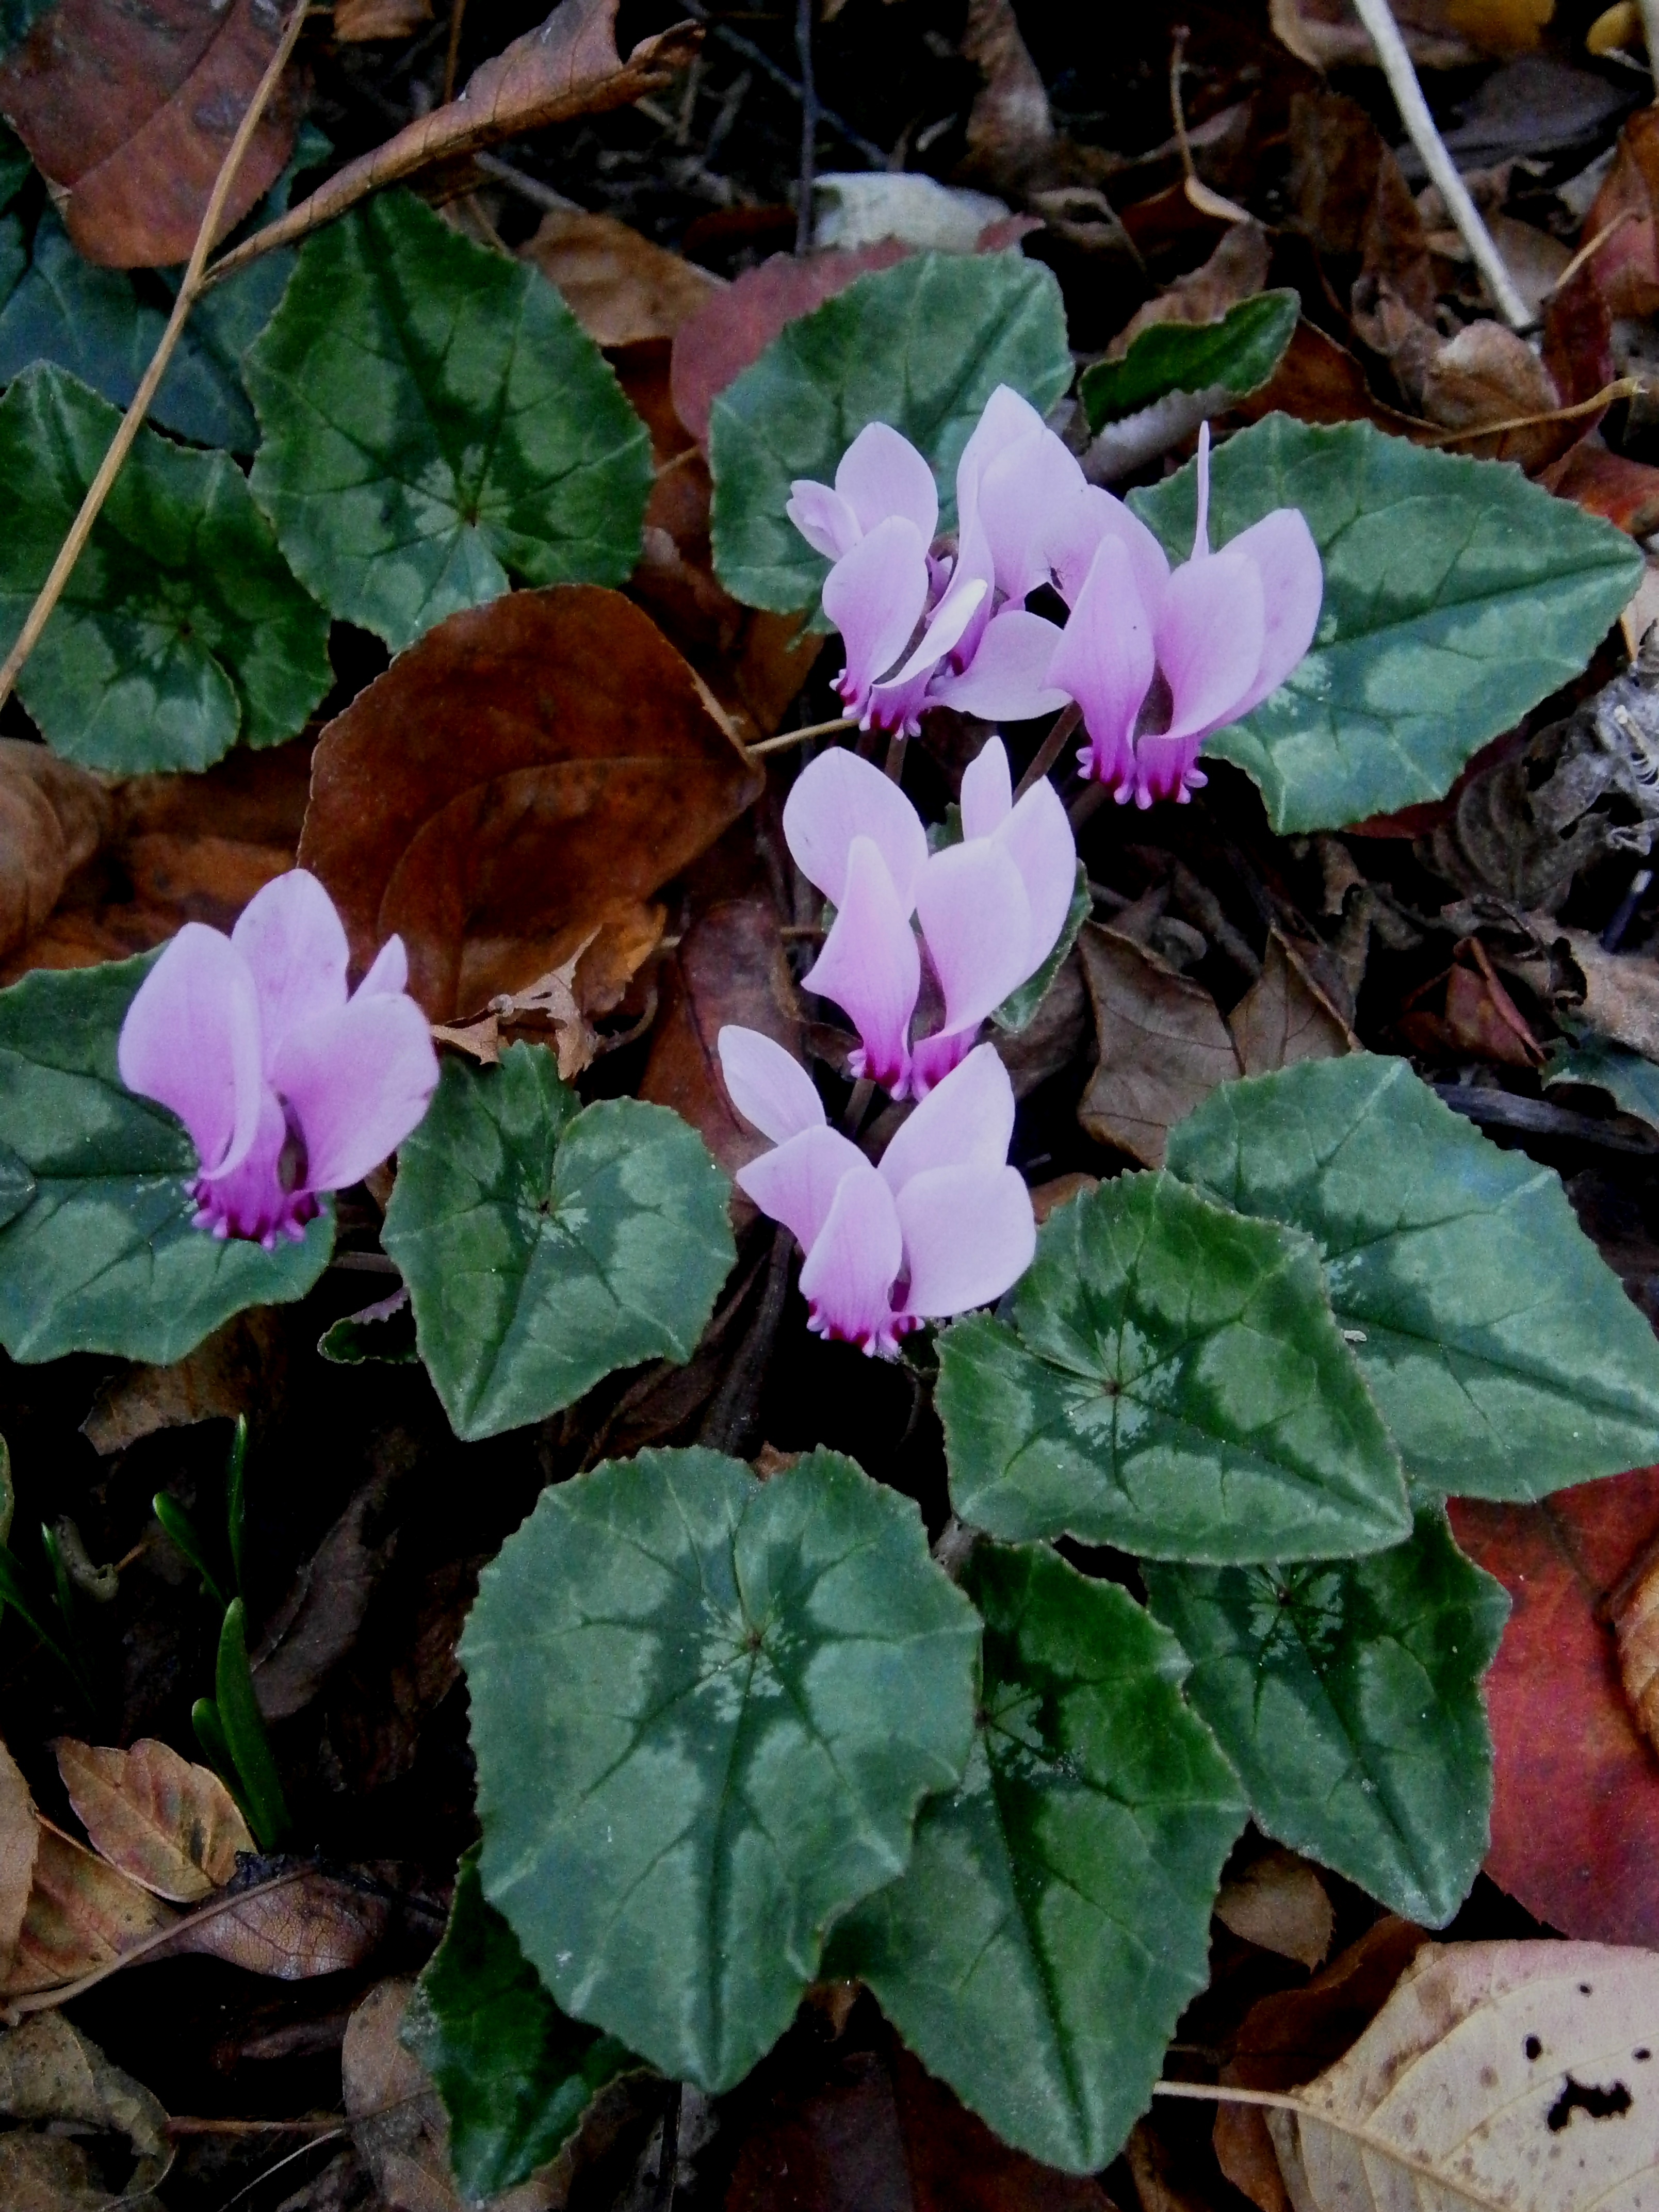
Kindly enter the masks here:
<path id="1" fill-rule="evenodd" d="M 230 936 L 186 922 L 137 989 L 117 1066 L 170 1108 L 201 1161 L 190 1192 L 215 1237 L 301 1237 L 316 1194 L 376 1168 L 438 1084 L 403 938 L 345 989 L 345 929 L 316 876 L 268 883 Z"/>

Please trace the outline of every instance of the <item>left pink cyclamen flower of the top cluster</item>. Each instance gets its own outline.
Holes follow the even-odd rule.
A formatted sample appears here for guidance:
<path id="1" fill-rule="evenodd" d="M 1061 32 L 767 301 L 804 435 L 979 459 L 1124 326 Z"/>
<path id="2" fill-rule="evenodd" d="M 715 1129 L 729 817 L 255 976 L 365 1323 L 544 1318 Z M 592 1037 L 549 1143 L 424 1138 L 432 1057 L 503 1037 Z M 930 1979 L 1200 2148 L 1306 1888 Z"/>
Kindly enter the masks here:
<path id="1" fill-rule="evenodd" d="M 887 422 L 858 431 L 834 487 L 810 478 L 792 484 L 790 520 L 834 562 L 823 611 L 847 653 L 836 690 L 865 730 L 916 730 L 929 706 L 987 721 L 1024 721 L 1064 706 L 1044 681 L 1055 624 L 1020 604 L 1031 584 L 1015 591 L 1011 582 L 1024 573 L 1046 484 L 1042 467 L 1031 467 L 1031 453 L 1046 451 L 1040 440 L 1077 467 L 1037 411 L 998 387 L 956 469 L 956 553 L 931 551 L 933 471 Z M 1020 465 L 1015 447 L 1026 449 Z M 1009 465 L 998 473 L 1000 462 Z"/>

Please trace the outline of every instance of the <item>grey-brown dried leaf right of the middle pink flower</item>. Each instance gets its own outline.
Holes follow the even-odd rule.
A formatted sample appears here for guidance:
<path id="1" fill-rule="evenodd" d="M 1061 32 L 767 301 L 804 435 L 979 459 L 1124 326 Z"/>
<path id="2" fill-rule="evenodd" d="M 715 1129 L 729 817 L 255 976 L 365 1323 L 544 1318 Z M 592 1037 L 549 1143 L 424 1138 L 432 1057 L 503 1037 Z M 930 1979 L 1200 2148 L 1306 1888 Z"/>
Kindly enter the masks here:
<path id="1" fill-rule="evenodd" d="M 1077 949 L 1099 1042 L 1077 1119 L 1097 1144 L 1161 1168 L 1175 1124 L 1239 1075 L 1228 1024 L 1203 984 L 1135 938 L 1091 922 Z"/>

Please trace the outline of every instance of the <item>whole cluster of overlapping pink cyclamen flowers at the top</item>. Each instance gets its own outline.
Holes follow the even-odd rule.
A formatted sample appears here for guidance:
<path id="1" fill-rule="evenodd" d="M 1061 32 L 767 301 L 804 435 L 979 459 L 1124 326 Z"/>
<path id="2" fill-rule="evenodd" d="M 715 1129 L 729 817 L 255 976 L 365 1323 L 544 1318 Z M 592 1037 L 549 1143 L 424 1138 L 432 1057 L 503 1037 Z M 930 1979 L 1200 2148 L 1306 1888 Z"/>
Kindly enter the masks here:
<path id="1" fill-rule="evenodd" d="M 1075 701 L 1082 772 L 1141 807 L 1206 781 L 1203 739 L 1276 690 L 1318 624 L 1318 546 L 1294 507 L 1210 551 L 1208 425 L 1179 568 L 1006 385 L 956 471 L 956 546 L 933 542 L 933 471 L 885 422 L 854 438 L 834 487 L 803 478 L 792 491 L 790 520 L 834 562 L 823 611 L 847 655 L 836 690 L 863 728 L 914 732 L 933 706 L 1024 721 Z M 1064 628 L 1026 611 L 1040 586 L 1066 604 Z"/>

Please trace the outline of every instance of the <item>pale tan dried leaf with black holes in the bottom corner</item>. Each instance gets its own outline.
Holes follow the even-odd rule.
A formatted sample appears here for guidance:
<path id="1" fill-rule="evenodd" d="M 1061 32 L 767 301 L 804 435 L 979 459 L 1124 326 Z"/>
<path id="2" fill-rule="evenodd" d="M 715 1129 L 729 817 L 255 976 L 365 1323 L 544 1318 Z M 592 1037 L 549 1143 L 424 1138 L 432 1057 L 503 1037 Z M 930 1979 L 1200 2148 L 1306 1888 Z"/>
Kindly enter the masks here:
<path id="1" fill-rule="evenodd" d="M 1267 2115 L 1296 2212 L 1641 2212 L 1659 1955 L 1425 1944 L 1347 2057 Z"/>

